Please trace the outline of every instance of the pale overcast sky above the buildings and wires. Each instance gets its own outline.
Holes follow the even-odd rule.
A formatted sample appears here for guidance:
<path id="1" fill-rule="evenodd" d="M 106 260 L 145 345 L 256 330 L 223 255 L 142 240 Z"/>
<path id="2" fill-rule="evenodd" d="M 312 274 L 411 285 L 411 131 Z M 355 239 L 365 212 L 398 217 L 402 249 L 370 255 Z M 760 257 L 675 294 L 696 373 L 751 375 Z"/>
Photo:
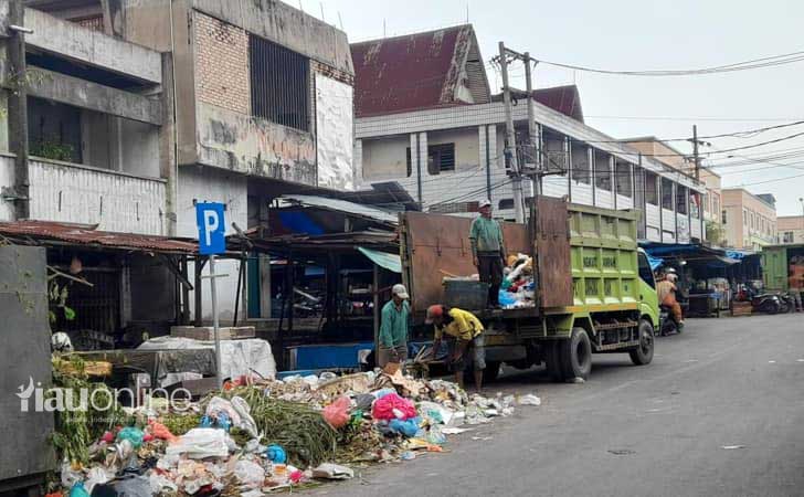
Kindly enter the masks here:
<path id="1" fill-rule="evenodd" d="M 287 0 L 299 7 L 298 0 Z M 488 61 L 505 41 L 544 61 L 617 71 L 711 67 L 751 59 L 804 51 L 804 1 L 747 0 L 302 0 L 300 6 L 341 25 L 350 41 L 408 34 L 455 25 L 475 27 Z M 340 18 L 339 18 L 340 14 Z M 523 86 L 522 70 L 514 71 Z M 537 87 L 575 83 L 586 124 L 615 138 L 699 136 L 757 129 L 804 120 L 804 61 L 719 75 L 633 77 L 596 75 L 539 65 Z M 495 91 L 499 80 L 493 71 Z M 495 80 L 497 82 L 495 83 Z M 712 148 L 730 149 L 804 133 L 804 125 L 747 138 L 713 138 Z M 683 151 L 683 141 L 671 145 Z M 780 215 L 802 213 L 804 154 L 797 158 L 722 167 L 736 160 L 765 159 L 783 150 L 804 151 L 804 136 L 737 151 L 742 157 L 712 156 L 723 186 L 745 184 L 754 193 L 776 197 Z M 780 167 L 779 165 L 793 167 Z M 793 178 L 798 176 L 797 178 Z M 779 181 L 771 181 L 779 180 Z M 768 181 L 768 182 L 766 182 Z M 763 183 L 759 183 L 763 182 Z M 759 184 L 757 184 L 759 183 Z"/>

